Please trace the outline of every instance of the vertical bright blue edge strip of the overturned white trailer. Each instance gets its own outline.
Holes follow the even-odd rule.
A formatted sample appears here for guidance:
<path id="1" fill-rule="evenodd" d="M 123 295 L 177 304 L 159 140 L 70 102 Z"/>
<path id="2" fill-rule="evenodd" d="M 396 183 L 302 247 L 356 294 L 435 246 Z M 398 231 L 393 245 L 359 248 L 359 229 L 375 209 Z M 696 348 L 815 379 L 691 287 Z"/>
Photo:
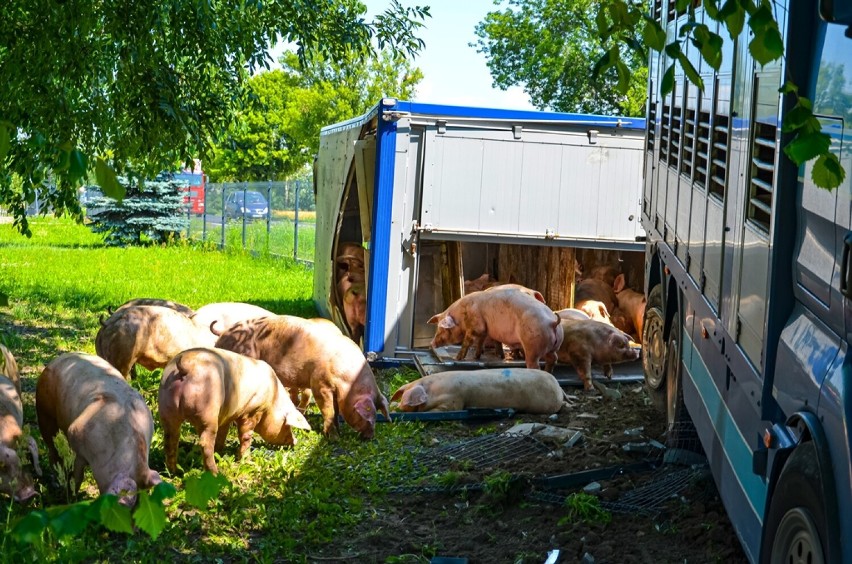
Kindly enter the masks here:
<path id="1" fill-rule="evenodd" d="M 385 110 L 384 104 L 379 106 L 376 175 L 373 186 L 373 231 L 370 237 L 370 277 L 367 281 L 367 326 L 364 331 L 364 350 L 367 352 L 378 352 L 385 348 L 388 257 L 396 158 L 396 120 L 382 119 Z"/>

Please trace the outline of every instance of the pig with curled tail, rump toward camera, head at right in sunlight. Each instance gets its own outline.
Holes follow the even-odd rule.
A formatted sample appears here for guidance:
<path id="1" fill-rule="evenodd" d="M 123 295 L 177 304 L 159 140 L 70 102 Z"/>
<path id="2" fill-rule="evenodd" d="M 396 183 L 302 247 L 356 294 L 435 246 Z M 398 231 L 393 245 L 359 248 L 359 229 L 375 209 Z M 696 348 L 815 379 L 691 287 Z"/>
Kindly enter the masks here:
<path id="1" fill-rule="evenodd" d="M 237 460 L 251 446 L 253 431 L 270 444 L 294 445 L 291 427 L 311 428 L 271 366 L 225 349 L 194 348 L 170 360 L 160 381 L 159 411 L 171 472 L 184 421 L 198 432 L 204 467 L 213 474 L 219 473 L 214 446 L 222 450 L 232 423 L 240 438 Z"/>

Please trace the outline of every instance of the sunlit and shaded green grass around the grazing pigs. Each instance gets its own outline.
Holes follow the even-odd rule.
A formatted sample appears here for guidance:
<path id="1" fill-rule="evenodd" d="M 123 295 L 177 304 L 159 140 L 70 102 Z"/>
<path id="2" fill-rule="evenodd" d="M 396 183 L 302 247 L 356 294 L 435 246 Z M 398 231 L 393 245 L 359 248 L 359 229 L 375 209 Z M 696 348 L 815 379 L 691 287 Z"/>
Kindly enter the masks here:
<path id="1" fill-rule="evenodd" d="M 50 360 L 66 351 L 94 352 L 98 316 L 136 297 L 176 300 L 192 307 L 214 301 L 246 301 L 277 313 L 313 316 L 312 272 L 292 260 L 253 258 L 243 252 L 219 252 L 211 245 L 107 248 L 100 236 L 68 220 L 39 218 L 26 239 L 11 225 L 0 225 L 0 338 L 15 354 L 22 371 L 25 423 L 39 442 L 44 465 L 46 449 L 38 433 L 34 390 Z M 7 299 L 3 299 L 3 298 Z M 8 302 L 8 305 L 3 305 Z M 160 371 L 140 370 L 132 381 L 157 413 Z M 385 394 L 410 379 L 398 372 L 377 380 Z M 308 412 L 314 428 L 321 418 Z M 133 562 L 173 560 L 259 560 L 303 562 L 345 532 L 371 519 L 366 500 L 380 500 L 387 485 L 399 483 L 413 464 L 409 448 L 422 439 L 417 423 L 381 425 L 372 441 L 361 441 L 346 425 L 337 441 L 315 432 L 295 433 L 291 449 L 268 447 L 255 436 L 250 456 L 234 460 L 236 433 L 231 432 L 221 473 L 230 481 L 207 511 L 183 500 L 183 476 L 165 470 L 159 421 L 150 463 L 178 489 L 168 506 L 164 532 L 157 540 L 88 529 L 34 548 L 9 547 L 0 561 Z M 389 463 L 389 461 L 393 463 Z M 184 472 L 201 469 L 197 436 L 185 426 L 178 463 Z M 82 497 L 97 495 L 87 472 Z M 65 503 L 44 483 L 30 507 L 0 497 L 4 535 L 15 521 L 39 507 Z"/>

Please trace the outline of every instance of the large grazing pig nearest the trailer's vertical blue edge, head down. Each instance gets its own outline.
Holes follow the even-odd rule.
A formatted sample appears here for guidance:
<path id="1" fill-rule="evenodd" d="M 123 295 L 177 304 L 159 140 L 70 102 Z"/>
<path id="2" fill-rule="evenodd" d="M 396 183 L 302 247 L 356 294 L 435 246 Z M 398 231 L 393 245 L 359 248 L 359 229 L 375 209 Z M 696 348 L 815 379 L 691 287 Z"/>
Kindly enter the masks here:
<path id="1" fill-rule="evenodd" d="M 222 332 L 216 347 L 268 362 L 294 403 L 298 390 L 309 388 L 325 436 L 337 434 L 338 413 L 363 439 L 373 438 L 377 406 L 390 420 L 364 353 L 327 319 L 277 315 L 241 321 Z"/>

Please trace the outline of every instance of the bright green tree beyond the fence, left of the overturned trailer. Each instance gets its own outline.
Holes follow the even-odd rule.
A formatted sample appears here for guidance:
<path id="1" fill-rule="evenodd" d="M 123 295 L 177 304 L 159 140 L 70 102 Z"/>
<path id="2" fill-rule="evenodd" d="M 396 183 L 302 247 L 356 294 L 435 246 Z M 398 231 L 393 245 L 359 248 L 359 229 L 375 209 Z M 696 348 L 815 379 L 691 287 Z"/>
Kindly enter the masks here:
<path id="1" fill-rule="evenodd" d="M 364 113 L 382 96 L 411 97 L 423 76 L 387 51 L 339 63 L 300 61 L 287 51 L 281 63 L 249 81 L 248 108 L 207 167 L 211 181 L 289 178 L 313 160 L 320 128 Z"/>

